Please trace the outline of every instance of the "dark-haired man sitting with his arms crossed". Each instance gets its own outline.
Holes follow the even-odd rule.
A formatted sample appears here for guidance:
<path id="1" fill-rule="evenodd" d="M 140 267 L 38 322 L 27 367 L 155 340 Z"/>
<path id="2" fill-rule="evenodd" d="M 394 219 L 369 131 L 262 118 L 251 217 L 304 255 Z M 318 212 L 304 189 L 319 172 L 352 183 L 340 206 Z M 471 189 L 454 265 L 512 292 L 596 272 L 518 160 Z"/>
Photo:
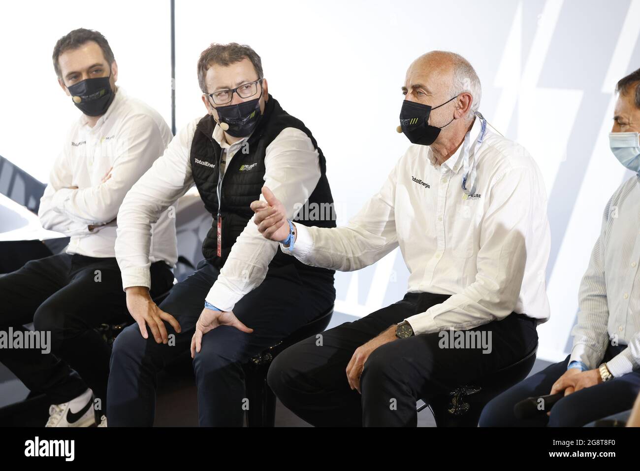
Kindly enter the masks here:
<path id="1" fill-rule="evenodd" d="M 129 188 L 163 153 L 171 130 L 156 110 L 116 87 L 118 65 L 99 32 L 74 29 L 60 38 L 53 65 L 60 87 L 83 114 L 68 131 L 38 216 L 45 229 L 71 240 L 65 253 L 0 276 L 0 328 L 24 331 L 33 321 L 36 331 L 51 332 L 52 353 L 0 349 L 0 361 L 31 391 L 49 395 L 47 426 L 90 426 L 94 405 L 96 419 L 104 419 L 111 356 L 94 329 L 128 318 L 114 252 L 116 214 Z M 150 237 L 151 291 L 157 295 L 173 283 L 175 219 L 160 215 Z"/>

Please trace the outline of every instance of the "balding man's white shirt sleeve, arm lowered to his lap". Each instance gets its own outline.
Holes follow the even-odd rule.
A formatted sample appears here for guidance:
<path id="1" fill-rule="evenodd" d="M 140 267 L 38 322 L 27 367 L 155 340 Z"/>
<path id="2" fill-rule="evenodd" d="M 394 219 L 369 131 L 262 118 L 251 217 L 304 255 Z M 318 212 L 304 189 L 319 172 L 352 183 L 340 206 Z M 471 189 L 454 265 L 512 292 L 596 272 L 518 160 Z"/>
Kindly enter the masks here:
<path id="1" fill-rule="evenodd" d="M 497 176 L 480 226 L 476 279 L 447 301 L 407 318 L 415 335 L 446 328 L 468 330 L 513 312 L 527 260 L 525 235 L 539 214 L 534 208 L 546 205 L 537 182 L 529 167 L 514 167 Z"/>

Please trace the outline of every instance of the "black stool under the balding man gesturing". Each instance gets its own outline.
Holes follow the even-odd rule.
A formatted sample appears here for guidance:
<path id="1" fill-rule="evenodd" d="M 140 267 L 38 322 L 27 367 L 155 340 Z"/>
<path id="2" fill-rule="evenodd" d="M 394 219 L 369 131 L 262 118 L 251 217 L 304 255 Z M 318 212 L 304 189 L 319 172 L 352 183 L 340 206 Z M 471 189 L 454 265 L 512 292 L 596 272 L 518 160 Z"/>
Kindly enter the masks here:
<path id="1" fill-rule="evenodd" d="M 448 395 L 423 399 L 424 404 L 417 411 L 429 407 L 437 427 L 477 427 L 484 406 L 514 384 L 520 383 L 531 372 L 537 351 L 536 345 L 520 361 L 497 370 L 476 383 L 459 386 Z"/>

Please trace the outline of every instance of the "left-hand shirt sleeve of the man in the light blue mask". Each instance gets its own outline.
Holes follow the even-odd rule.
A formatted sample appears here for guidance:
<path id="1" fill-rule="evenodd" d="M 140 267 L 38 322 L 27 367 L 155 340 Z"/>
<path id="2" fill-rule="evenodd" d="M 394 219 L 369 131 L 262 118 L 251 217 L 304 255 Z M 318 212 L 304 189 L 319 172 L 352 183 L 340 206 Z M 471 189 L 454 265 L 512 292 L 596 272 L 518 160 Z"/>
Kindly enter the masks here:
<path id="1" fill-rule="evenodd" d="M 602 229 L 591 251 L 589 267 L 582 277 L 578 301 L 578 322 L 572 329 L 573 347 L 569 361 L 582 361 L 589 369 L 596 368 L 604 358 L 609 342 L 609 306 L 604 274 L 605 230 L 611 199 L 605 206 Z"/>

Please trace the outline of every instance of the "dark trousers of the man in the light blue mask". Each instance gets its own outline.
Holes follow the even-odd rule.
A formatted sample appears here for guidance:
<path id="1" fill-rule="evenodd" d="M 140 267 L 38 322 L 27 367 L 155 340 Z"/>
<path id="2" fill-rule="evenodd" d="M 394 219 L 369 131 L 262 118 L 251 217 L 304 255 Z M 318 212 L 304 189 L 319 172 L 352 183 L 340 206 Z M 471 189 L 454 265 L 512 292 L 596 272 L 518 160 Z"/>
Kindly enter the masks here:
<path id="1" fill-rule="evenodd" d="M 603 361 L 609 361 L 626 345 L 609 345 Z M 606 383 L 595 384 L 560 399 L 550 417 L 540 413 L 524 420 L 516 418 L 513 406 L 527 397 L 546 395 L 566 372 L 570 355 L 512 386 L 490 401 L 480 417 L 481 427 L 582 427 L 589 422 L 631 409 L 640 393 L 640 371 L 632 371 Z"/>

